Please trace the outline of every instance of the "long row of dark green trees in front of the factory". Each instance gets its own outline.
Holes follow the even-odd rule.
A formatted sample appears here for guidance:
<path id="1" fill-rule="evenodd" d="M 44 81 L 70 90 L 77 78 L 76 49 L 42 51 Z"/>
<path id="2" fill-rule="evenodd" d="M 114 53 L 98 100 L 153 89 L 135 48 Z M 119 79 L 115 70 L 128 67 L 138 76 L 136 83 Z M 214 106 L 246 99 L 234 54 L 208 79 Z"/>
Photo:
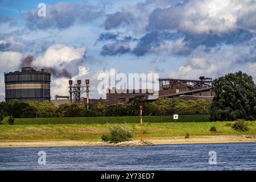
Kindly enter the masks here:
<path id="1" fill-rule="evenodd" d="M 49 118 L 49 117 L 109 117 L 139 115 L 139 105 L 143 106 L 143 115 L 195 114 L 209 113 L 211 101 L 184 101 L 177 98 L 160 98 L 154 102 L 146 102 L 141 97 L 126 104 L 105 105 L 98 103 L 90 105 L 89 109 L 77 104 L 61 104 L 55 106 L 52 102 L 0 102 L 0 117 L 14 118 Z"/>

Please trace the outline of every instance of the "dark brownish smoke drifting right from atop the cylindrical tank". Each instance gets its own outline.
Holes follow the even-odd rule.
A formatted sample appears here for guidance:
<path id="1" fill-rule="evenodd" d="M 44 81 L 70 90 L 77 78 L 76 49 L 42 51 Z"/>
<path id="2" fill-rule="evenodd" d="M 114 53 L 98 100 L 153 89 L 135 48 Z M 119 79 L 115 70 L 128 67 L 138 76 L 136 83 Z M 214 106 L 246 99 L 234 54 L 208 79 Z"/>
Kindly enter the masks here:
<path id="1" fill-rule="evenodd" d="M 34 56 L 28 54 L 26 57 L 24 57 L 24 59 L 21 60 L 20 68 L 33 67 L 36 70 L 44 69 L 46 72 L 51 73 L 52 76 L 54 76 L 56 78 L 60 78 L 60 77 L 71 78 L 72 77 L 71 73 L 69 73 L 67 71 L 67 69 L 65 69 L 65 68 L 61 69 L 61 70 L 58 70 L 57 68 L 52 68 L 52 67 L 38 68 L 38 67 L 32 66 L 33 61 L 34 61 Z"/>

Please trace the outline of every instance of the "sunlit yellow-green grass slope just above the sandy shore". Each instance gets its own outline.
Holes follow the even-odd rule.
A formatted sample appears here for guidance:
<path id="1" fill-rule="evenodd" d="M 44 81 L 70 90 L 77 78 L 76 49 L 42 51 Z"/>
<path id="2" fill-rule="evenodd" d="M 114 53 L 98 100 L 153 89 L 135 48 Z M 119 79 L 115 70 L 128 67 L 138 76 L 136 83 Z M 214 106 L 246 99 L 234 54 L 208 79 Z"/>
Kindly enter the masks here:
<path id="1" fill-rule="evenodd" d="M 64 118 L 62 118 L 64 119 Z M 66 118 L 65 118 L 66 119 Z M 74 119 L 74 118 L 72 118 Z M 55 122 L 53 122 L 55 123 Z M 185 136 L 189 133 L 193 136 L 214 136 L 214 135 L 256 135 L 256 122 L 249 123 L 249 131 L 235 131 L 230 122 L 163 122 L 143 123 L 143 139 L 166 139 L 170 137 Z M 32 141 L 60 141 L 60 140 L 82 140 L 99 141 L 101 135 L 106 134 L 113 123 L 80 123 L 80 124 L 48 124 L 48 125 L 0 125 L 0 142 L 32 142 Z M 118 123 L 130 127 L 134 133 L 133 139 L 140 135 L 140 124 Z M 209 131 L 211 126 L 216 126 L 217 131 Z"/>

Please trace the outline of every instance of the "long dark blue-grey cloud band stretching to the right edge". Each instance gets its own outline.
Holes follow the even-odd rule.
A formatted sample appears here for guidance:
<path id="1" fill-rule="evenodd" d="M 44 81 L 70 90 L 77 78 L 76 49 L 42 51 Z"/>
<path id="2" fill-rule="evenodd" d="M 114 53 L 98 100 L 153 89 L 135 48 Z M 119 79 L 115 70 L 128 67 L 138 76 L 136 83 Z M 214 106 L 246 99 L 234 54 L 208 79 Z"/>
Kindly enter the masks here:
<path id="1" fill-rule="evenodd" d="M 102 47 L 101 55 L 121 55 L 123 53 L 133 53 L 136 56 L 143 56 L 151 53 L 152 48 L 158 48 L 161 44 L 168 41 L 183 39 L 184 46 L 181 48 L 172 47 L 171 53 L 177 56 L 188 56 L 193 49 L 203 46 L 205 51 L 210 48 L 221 46 L 222 44 L 236 46 L 240 43 L 245 43 L 254 38 L 255 34 L 247 30 L 234 30 L 222 34 L 214 32 L 188 34 L 185 32 L 170 32 L 170 31 L 150 31 L 139 39 L 131 36 L 121 37 L 120 33 L 102 33 L 97 41 L 111 40 L 113 43 L 105 44 Z M 137 41 L 137 46 L 134 48 L 122 47 L 121 43 L 129 44 Z M 175 46 L 175 45 L 174 45 Z M 171 49 L 171 47 L 170 47 Z"/>

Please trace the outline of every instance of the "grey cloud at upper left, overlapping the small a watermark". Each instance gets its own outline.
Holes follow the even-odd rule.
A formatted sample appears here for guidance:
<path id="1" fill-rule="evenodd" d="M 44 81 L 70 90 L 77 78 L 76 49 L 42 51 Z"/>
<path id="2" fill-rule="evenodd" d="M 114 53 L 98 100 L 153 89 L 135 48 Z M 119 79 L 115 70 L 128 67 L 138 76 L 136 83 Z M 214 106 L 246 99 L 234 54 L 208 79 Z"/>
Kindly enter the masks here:
<path id="1" fill-rule="evenodd" d="M 104 10 L 100 6 L 79 5 L 77 3 L 57 3 L 46 7 L 46 16 L 39 17 L 38 10 L 31 10 L 24 16 L 30 29 L 68 28 L 74 23 L 85 23 L 100 18 Z"/>

